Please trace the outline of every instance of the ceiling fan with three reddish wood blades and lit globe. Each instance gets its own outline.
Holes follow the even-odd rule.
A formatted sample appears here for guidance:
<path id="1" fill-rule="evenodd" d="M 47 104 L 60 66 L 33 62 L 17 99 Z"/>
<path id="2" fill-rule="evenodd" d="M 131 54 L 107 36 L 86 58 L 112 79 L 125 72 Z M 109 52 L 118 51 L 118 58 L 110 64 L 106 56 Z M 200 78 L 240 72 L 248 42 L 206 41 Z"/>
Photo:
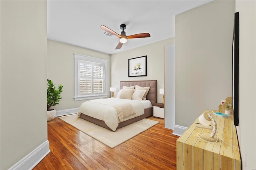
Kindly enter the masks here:
<path id="1" fill-rule="evenodd" d="M 120 34 L 117 34 L 116 32 L 114 32 L 113 30 L 110 30 L 108 27 L 101 25 L 100 28 L 102 28 L 102 30 L 109 32 L 115 36 L 117 36 L 120 39 L 120 42 L 118 43 L 118 45 L 116 46 L 116 49 L 120 49 L 123 45 L 123 43 L 127 42 L 127 39 L 131 39 L 131 38 L 146 38 L 146 37 L 150 37 L 149 33 L 141 33 L 141 34 L 134 34 L 131 36 L 126 36 L 124 30 L 126 29 L 126 25 L 125 24 L 121 24 L 120 28 L 121 30 L 123 30 Z"/>

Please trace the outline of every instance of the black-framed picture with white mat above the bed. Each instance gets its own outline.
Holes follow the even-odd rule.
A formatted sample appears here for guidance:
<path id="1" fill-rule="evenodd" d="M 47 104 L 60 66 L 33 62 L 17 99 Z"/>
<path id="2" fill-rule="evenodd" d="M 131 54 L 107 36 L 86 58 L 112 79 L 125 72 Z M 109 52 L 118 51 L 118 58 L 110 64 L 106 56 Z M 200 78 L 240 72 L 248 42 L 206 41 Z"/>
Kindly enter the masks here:
<path id="1" fill-rule="evenodd" d="M 147 56 L 128 59 L 128 77 L 147 75 Z"/>

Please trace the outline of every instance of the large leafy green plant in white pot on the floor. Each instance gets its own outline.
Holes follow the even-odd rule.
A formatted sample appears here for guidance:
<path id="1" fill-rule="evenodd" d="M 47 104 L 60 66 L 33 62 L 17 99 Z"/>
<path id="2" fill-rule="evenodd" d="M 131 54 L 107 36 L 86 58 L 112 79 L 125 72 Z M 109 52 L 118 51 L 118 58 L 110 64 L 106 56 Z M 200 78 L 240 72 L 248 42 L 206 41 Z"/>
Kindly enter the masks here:
<path id="1" fill-rule="evenodd" d="M 52 121 L 55 118 L 56 110 L 50 109 L 50 107 L 59 104 L 60 99 L 62 99 L 60 94 L 62 93 L 63 86 L 59 84 L 58 89 L 56 89 L 52 80 L 47 79 L 47 82 L 47 121 Z"/>

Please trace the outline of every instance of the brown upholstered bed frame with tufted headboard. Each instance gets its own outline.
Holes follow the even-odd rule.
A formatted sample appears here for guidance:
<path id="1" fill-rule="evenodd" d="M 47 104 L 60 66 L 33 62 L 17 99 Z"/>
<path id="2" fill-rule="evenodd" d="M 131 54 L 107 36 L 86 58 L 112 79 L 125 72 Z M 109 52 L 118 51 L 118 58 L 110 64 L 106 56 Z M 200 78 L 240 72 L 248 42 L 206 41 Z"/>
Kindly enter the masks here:
<path id="1" fill-rule="evenodd" d="M 152 105 L 154 103 L 156 103 L 156 94 L 157 94 L 157 88 L 156 88 L 156 80 L 144 80 L 144 81 L 120 81 L 120 90 L 123 88 L 123 86 L 135 86 L 135 85 L 139 85 L 140 87 L 150 87 L 148 94 L 146 96 L 146 99 L 149 100 Z M 120 122 L 118 124 L 118 128 L 124 127 L 126 125 L 130 125 L 131 123 L 137 122 L 139 120 L 142 120 L 144 118 L 153 116 L 153 106 L 152 107 L 148 107 L 144 109 L 144 114 L 140 115 L 138 117 L 134 117 L 132 119 L 129 119 L 127 121 L 123 121 Z M 80 118 L 92 122 L 96 125 L 99 125 L 101 127 L 107 128 L 109 130 L 111 130 L 104 121 L 84 115 L 83 113 L 81 113 Z"/>

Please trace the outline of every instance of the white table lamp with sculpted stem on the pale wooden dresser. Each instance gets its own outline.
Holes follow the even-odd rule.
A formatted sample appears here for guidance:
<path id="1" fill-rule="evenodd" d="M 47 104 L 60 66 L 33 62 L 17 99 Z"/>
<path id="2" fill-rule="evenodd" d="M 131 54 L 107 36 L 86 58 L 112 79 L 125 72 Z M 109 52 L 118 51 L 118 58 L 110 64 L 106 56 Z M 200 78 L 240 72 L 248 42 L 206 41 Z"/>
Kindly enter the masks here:
<path id="1" fill-rule="evenodd" d="M 208 112 L 212 112 L 213 114 Z M 218 142 L 219 141 L 218 137 L 215 137 L 215 134 L 217 133 L 217 123 L 215 121 L 216 115 L 214 115 L 215 118 L 213 117 L 213 115 L 214 115 L 213 111 L 207 111 L 206 113 L 203 113 L 202 115 L 200 115 L 200 117 L 198 118 L 199 122 L 204 126 L 209 126 L 210 123 L 212 122 L 212 132 L 210 134 L 203 133 L 200 135 L 200 137 L 203 140 L 206 140 L 209 142 Z"/>

